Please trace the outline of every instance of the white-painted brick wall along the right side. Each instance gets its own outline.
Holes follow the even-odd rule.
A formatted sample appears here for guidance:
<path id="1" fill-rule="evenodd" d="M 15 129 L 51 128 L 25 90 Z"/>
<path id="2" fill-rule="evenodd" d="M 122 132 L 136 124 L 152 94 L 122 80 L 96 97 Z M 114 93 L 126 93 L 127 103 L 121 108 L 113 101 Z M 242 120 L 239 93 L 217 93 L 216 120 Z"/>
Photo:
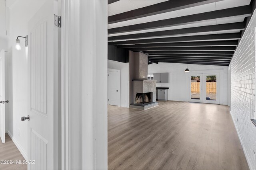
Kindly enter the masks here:
<path id="1" fill-rule="evenodd" d="M 235 123 L 247 162 L 256 170 L 255 118 L 255 27 L 252 16 L 231 61 L 231 115 Z"/>

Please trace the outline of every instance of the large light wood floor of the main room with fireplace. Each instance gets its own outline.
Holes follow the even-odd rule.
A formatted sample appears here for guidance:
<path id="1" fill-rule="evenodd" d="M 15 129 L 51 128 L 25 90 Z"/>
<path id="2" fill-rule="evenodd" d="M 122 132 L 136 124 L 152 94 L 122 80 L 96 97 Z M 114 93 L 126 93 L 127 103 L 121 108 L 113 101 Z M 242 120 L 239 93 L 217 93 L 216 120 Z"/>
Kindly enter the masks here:
<path id="1" fill-rule="evenodd" d="M 228 106 L 108 106 L 108 169 L 249 170 Z"/>

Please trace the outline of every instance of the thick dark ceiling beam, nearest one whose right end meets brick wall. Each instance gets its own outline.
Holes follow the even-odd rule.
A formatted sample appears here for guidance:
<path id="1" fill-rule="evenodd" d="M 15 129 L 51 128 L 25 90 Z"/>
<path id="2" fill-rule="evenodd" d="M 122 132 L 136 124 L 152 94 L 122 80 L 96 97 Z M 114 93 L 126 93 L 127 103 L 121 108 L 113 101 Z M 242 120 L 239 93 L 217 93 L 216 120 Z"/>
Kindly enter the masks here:
<path id="1" fill-rule="evenodd" d="M 173 26 L 179 26 L 179 25 L 201 23 L 205 21 L 213 21 L 217 19 L 248 17 L 248 16 L 251 16 L 251 14 L 252 14 L 252 6 L 250 5 L 239 6 L 235 8 L 204 12 L 200 14 L 170 18 L 166 20 L 158 20 L 158 21 L 152 21 L 152 22 L 146 22 L 146 23 L 139 23 L 135 25 L 127 25 L 123 27 L 110 28 L 108 29 L 108 34 L 142 31 L 147 29 L 156 29 L 156 28 L 164 28 L 164 27 L 173 27 Z"/>

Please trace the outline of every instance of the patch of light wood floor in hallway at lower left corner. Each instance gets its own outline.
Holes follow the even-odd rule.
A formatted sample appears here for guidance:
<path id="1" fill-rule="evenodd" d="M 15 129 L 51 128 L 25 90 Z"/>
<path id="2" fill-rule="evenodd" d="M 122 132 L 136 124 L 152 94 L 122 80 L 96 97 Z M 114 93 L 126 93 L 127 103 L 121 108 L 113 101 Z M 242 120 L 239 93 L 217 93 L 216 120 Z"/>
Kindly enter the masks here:
<path id="1" fill-rule="evenodd" d="M 5 143 L 0 141 L 0 160 L 14 160 L 15 164 L 0 164 L 0 170 L 26 170 L 26 164 L 16 164 L 16 160 L 25 160 L 9 135 L 5 134 Z"/>

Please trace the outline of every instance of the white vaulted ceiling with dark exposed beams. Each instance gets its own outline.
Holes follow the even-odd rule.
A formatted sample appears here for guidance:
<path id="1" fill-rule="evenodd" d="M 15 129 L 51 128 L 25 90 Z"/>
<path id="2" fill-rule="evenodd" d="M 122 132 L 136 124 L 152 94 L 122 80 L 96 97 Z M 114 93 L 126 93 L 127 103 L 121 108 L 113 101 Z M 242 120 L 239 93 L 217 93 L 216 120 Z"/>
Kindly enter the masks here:
<path id="1" fill-rule="evenodd" d="M 251 0 L 108 0 L 108 44 L 148 63 L 228 66 Z"/>

